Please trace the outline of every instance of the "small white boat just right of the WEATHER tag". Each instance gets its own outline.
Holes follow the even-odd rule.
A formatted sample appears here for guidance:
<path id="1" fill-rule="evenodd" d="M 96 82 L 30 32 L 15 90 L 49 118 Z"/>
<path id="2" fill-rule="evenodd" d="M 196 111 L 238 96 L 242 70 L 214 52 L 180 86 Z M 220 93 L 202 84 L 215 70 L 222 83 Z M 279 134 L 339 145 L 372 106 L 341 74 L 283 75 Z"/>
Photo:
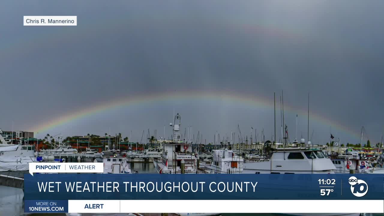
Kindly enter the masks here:
<path id="1" fill-rule="evenodd" d="M 103 158 L 104 173 L 131 174 L 131 164 L 125 157 Z"/>

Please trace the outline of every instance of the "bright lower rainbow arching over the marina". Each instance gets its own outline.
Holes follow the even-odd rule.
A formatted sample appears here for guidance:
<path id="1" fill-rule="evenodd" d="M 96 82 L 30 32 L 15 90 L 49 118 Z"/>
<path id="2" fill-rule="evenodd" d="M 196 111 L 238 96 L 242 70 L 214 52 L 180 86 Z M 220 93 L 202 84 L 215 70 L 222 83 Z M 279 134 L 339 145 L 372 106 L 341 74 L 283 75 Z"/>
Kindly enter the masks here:
<path id="1" fill-rule="evenodd" d="M 30 131 L 38 133 L 50 131 L 56 128 L 57 126 L 65 125 L 67 123 L 91 117 L 95 114 L 107 112 L 116 108 L 133 105 L 156 104 L 160 102 L 173 102 L 180 100 L 221 100 L 228 103 L 237 103 L 248 106 L 255 106 L 259 108 L 261 107 L 265 110 L 273 110 L 274 106 L 273 99 L 271 100 L 262 96 L 254 96 L 245 93 L 236 93 L 233 91 L 164 91 L 159 93 L 145 93 L 142 95 L 128 96 L 124 98 L 116 98 L 110 101 L 104 101 L 101 105 L 89 106 L 81 110 L 66 113 L 65 115 L 56 118 L 53 117 L 48 121 L 45 121 L 41 124 L 35 125 L 35 127 L 33 128 L 30 128 Z M 280 106 L 278 105 L 279 103 L 279 101 L 276 101 L 276 109 L 278 109 L 278 106 Z M 298 113 L 303 116 L 306 116 L 308 112 L 307 110 L 301 110 L 287 105 L 284 106 L 284 110 L 295 114 Z M 326 126 L 332 126 L 332 128 L 335 128 L 336 130 L 344 132 L 355 138 L 359 138 L 360 136 L 359 133 L 357 133 L 356 131 L 353 131 L 344 125 L 341 125 L 316 113 L 310 113 L 310 119 L 311 121 L 315 121 Z"/>

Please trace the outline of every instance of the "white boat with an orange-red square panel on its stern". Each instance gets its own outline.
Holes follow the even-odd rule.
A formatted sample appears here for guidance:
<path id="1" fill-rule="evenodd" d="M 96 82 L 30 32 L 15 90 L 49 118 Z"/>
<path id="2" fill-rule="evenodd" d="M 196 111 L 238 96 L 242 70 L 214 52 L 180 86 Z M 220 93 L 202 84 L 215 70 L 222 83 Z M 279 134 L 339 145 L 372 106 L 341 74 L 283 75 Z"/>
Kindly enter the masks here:
<path id="1" fill-rule="evenodd" d="M 242 173 L 244 160 L 232 150 L 213 150 L 211 164 L 205 164 L 209 173 Z"/>

